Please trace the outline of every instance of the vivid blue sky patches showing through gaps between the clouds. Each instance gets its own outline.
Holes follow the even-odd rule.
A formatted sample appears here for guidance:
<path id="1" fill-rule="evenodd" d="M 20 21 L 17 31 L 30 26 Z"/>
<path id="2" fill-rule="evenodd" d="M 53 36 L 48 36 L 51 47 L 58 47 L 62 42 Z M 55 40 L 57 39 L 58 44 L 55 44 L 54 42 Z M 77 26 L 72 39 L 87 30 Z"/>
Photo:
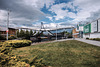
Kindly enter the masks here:
<path id="1" fill-rule="evenodd" d="M 70 0 L 71 1 L 71 0 Z M 69 0 L 55 0 L 55 3 L 53 5 L 58 5 L 58 4 L 61 4 L 61 3 L 68 3 L 70 2 Z M 60 23 L 60 22 L 65 22 L 67 20 L 72 20 L 73 18 L 70 18 L 70 17 L 65 17 L 64 19 L 60 19 L 60 20 L 55 20 L 55 17 L 53 16 L 56 16 L 57 14 L 56 13 L 53 13 L 52 11 L 49 11 L 49 9 L 51 8 L 52 6 L 50 6 L 49 8 L 46 8 L 46 5 L 44 5 L 43 8 L 41 8 L 41 11 L 45 14 L 49 14 L 51 17 L 52 17 L 52 20 L 49 19 L 49 18 L 44 18 L 42 21 L 44 22 L 47 22 L 47 23 L 52 23 L 52 22 L 55 22 L 55 23 Z M 55 8 L 56 9 L 56 8 Z M 66 8 L 66 7 L 62 7 L 61 8 L 62 10 L 68 10 L 69 12 L 74 12 L 75 11 L 72 11 L 70 8 Z M 76 11 L 77 12 L 77 11 Z M 41 21 L 41 20 L 40 20 Z"/>

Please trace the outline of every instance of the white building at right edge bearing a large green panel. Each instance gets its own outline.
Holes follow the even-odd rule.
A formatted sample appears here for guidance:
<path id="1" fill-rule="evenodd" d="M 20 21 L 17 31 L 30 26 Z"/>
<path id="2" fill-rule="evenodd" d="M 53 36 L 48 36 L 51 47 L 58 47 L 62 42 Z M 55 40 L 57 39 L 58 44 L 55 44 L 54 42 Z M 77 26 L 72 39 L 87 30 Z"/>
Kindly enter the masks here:
<path id="1" fill-rule="evenodd" d="M 100 19 L 84 26 L 84 38 L 100 38 Z"/>

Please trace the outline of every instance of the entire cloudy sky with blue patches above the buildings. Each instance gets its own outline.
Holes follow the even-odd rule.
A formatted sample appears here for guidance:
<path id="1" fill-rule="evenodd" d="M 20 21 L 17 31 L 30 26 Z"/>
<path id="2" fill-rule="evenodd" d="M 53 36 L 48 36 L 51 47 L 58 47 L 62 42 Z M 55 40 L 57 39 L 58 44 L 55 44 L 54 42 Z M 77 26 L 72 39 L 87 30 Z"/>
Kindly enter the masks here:
<path id="1" fill-rule="evenodd" d="M 100 0 L 0 0 L 0 26 L 45 28 L 76 26 L 100 18 Z"/>

